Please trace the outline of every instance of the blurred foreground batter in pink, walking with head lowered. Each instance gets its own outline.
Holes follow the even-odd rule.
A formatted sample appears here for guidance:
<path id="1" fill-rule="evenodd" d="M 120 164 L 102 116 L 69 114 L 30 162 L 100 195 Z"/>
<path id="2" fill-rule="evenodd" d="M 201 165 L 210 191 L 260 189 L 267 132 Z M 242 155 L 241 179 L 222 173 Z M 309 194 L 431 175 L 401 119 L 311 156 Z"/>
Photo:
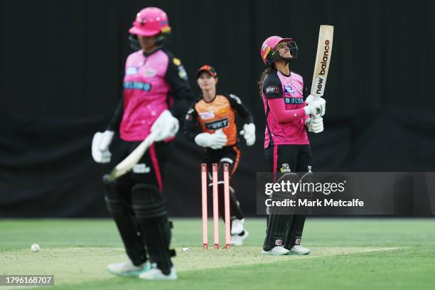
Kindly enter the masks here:
<path id="1" fill-rule="evenodd" d="M 112 213 L 129 259 L 108 265 L 112 274 L 141 279 L 177 279 L 169 249 L 171 222 L 161 194 L 169 141 L 178 131 L 178 119 L 188 111 L 193 97 L 181 61 L 165 48 L 171 32 L 166 13 L 142 9 L 129 29 L 132 46 L 125 64 L 124 96 L 106 131 L 95 134 L 92 156 L 98 163 L 111 159 L 109 144 L 119 131 L 124 159 L 151 132 L 156 142 L 130 173 L 105 183 L 105 200 Z"/>

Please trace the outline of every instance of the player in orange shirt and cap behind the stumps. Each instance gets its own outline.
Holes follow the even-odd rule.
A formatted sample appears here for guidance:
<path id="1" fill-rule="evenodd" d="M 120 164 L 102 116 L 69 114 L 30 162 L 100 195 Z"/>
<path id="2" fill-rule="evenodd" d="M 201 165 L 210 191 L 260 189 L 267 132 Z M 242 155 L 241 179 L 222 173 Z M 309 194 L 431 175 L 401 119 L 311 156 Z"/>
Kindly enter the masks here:
<path id="1" fill-rule="evenodd" d="M 205 148 L 205 163 L 218 163 L 218 197 L 219 215 L 225 219 L 223 164 L 228 163 L 230 178 L 234 175 L 240 159 L 238 148 L 235 114 L 245 121 L 240 132 L 245 137 L 247 146 L 255 143 L 255 125 L 249 109 L 242 104 L 239 97 L 232 94 L 216 92 L 218 73 L 210 65 L 203 65 L 196 75 L 202 91 L 198 101 L 190 107 L 184 122 L 184 136 Z M 198 134 L 197 129 L 200 129 Z M 212 186 L 211 175 L 209 174 Z M 211 190 L 210 190 L 211 191 Z M 235 191 L 230 190 L 231 244 L 240 246 L 248 235 L 243 223 L 242 210 Z"/>

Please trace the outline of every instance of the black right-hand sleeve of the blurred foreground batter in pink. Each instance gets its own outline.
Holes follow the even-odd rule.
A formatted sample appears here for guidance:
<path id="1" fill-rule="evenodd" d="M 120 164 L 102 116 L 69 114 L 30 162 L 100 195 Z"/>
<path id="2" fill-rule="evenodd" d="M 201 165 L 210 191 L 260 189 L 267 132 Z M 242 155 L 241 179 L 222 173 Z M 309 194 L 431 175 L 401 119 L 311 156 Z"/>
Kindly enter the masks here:
<path id="1" fill-rule="evenodd" d="M 174 117 L 181 119 L 188 112 L 189 104 L 193 102 L 193 96 L 186 70 L 183 68 L 181 61 L 174 58 L 171 53 L 166 52 L 166 54 L 168 54 L 169 63 L 165 79 L 171 86 L 171 93 L 175 99 L 170 110 Z"/>

